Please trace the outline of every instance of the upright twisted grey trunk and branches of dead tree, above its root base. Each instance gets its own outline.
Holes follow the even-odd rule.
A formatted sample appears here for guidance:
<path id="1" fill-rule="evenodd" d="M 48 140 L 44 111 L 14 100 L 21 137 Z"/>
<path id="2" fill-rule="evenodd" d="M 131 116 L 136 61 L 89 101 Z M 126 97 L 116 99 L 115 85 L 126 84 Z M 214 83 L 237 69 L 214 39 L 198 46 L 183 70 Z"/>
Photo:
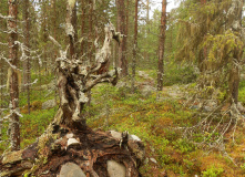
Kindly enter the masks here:
<path id="1" fill-rule="evenodd" d="M 75 1 L 74 1 L 75 2 Z M 75 24 L 75 21 L 73 21 L 73 17 L 75 15 L 73 13 L 73 9 L 75 8 L 75 4 L 70 3 L 68 0 L 67 6 L 67 28 L 65 33 L 70 39 L 70 58 L 67 59 L 65 51 L 61 53 L 61 60 L 59 61 L 59 67 L 58 67 L 58 74 L 59 74 L 59 92 L 60 92 L 60 103 L 61 108 L 63 111 L 63 119 L 61 123 L 68 127 L 76 127 L 80 126 L 80 128 L 85 128 L 85 119 L 81 114 L 81 111 L 84 107 L 84 104 L 88 103 L 88 97 L 85 96 L 85 93 L 89 92 L 95 84 L 100 83 L 101 80 L 104 77 L 109 77 L 110 74 L 108 72 L 92 77 L 92 81 L 90 79 L 90 74 L 96 73 L 99 71 L 102 71 L 104 65 L 110 61 L 111 56 L 111 49 L 110 43 L 113 38 L 113 27 L 109 25 L 105 28 L 105 41 L 103 44 L 103 48 L 96 53 L 95 55 L 95 62 L 96 64 L 93 66 L 88 66 L 86 74 L 81 80 L 79 79 L 81 73 L 84 73 L 85 71 L 81 71 L 82 66 L 80 65 L 81 62 L 74 58 L 76 55 L 74 39 L 75 39 L 75 30 L 73 24 Z M 61 46 L 60 46 L 61 48 Z M 68 49 L 67 49 L 68 50 Z M 80 81 L 79 81 L 80 80 Z M 114 82 L 112 80 L 106 80 L 103 82 Z M 79 84 L 80 83 L 80 84 Z"/>

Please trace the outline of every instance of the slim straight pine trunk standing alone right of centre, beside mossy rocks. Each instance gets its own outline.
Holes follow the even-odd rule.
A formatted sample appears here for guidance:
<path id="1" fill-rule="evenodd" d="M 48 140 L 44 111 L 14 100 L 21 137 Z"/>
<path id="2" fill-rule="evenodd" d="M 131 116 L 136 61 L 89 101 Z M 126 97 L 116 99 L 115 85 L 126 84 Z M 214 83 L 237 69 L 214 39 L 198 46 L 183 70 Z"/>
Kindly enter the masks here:
<path id="1" fill-rule="evenodd" d="M 165 30 L 166 30 L 166 0 L 163 0 L 161 28 L 160 28 L 160 44 L 159 44 L 157 91 L 163 90 Z"/>

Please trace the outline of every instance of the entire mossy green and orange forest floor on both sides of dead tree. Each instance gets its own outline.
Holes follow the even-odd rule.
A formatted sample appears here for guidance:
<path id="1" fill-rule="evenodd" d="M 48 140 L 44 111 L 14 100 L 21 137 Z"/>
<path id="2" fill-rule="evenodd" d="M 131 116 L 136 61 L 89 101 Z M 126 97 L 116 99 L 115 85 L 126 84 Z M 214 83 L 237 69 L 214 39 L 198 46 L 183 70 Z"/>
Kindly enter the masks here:
<path id="1" fill-rule="evenodd" d="M 136 91 L 131 92 L 130 79 L 123 79 L 116 86 L 106 84 L 92 90 L 91 105 L 84 111 L 88 124 L 94 129 L 129 131 L 139 136 L 146 149 L 146 158 L 141 167 L 145 177 L 203 176 L 203 177 L 238 177 L 245 176 L 245 133 L 244 125 L 237 126 L 235 142 L 225 135 L 225 150 L 197 146 L 184 138 L 178 127 L 193 125 L 197 111 L 185 105 L 187 92 L 192 84 L 164 86 L 155 90 L 155 73 L 140 71 L 136 76 Z M 42 83 L 51 82 L 47 77 Z M 54 91 L 45 86 L 37 86 L 31 94 L 31 114 L 27 114 L 25 95 L 21 94 L 21 147 L 32 144 L 52 121 L 58 106 L 42 110 L 42 103 L 54 98 Z M 245 83 L 241 84 L 239 101 L 245 102 Z M 44 95 L 44 96 L 43 96 Z M 191 107 L 191 108 L 190 108 Z M 7 139 L 4 124 L 3 139 Z M 0 153 L 8 143 L 0 143 Z"/>

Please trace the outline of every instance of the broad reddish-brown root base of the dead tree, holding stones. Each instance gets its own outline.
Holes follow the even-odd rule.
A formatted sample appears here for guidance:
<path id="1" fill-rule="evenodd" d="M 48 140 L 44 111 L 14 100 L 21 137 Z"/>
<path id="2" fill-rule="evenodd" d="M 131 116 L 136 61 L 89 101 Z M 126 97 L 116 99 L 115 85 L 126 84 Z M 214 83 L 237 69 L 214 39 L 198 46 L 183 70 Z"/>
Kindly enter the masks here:
<path id="1" fill-rule="evenodd" d="M 144 146 L 140 140 L 122 139 L 110 132 L 94 132 L 89 127 L 70 129 L 52 124 L 33 145 L 4 154 L 0 160 L 0 176 L 61 177 L 65 176 L 63 166 L 71 163 L 82 169 L 81 176 L 116 177 L 113 170 L 124 170 L 118 176 L 137 177 Z M 69 170 L 70 174 L 78 173 L 76 168 Z"/>

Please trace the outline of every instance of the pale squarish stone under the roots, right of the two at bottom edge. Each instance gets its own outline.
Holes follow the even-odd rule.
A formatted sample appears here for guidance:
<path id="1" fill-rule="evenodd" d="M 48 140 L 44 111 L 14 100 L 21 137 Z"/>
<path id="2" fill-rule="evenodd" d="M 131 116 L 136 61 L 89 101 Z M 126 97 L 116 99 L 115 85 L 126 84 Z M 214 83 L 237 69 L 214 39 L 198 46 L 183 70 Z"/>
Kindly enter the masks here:
<path id="1" fill-rule="evenodd" d="M 115 160 L 108 160 L 108 173 L 109 177 L 125 177 L 126 168 Z"/>

